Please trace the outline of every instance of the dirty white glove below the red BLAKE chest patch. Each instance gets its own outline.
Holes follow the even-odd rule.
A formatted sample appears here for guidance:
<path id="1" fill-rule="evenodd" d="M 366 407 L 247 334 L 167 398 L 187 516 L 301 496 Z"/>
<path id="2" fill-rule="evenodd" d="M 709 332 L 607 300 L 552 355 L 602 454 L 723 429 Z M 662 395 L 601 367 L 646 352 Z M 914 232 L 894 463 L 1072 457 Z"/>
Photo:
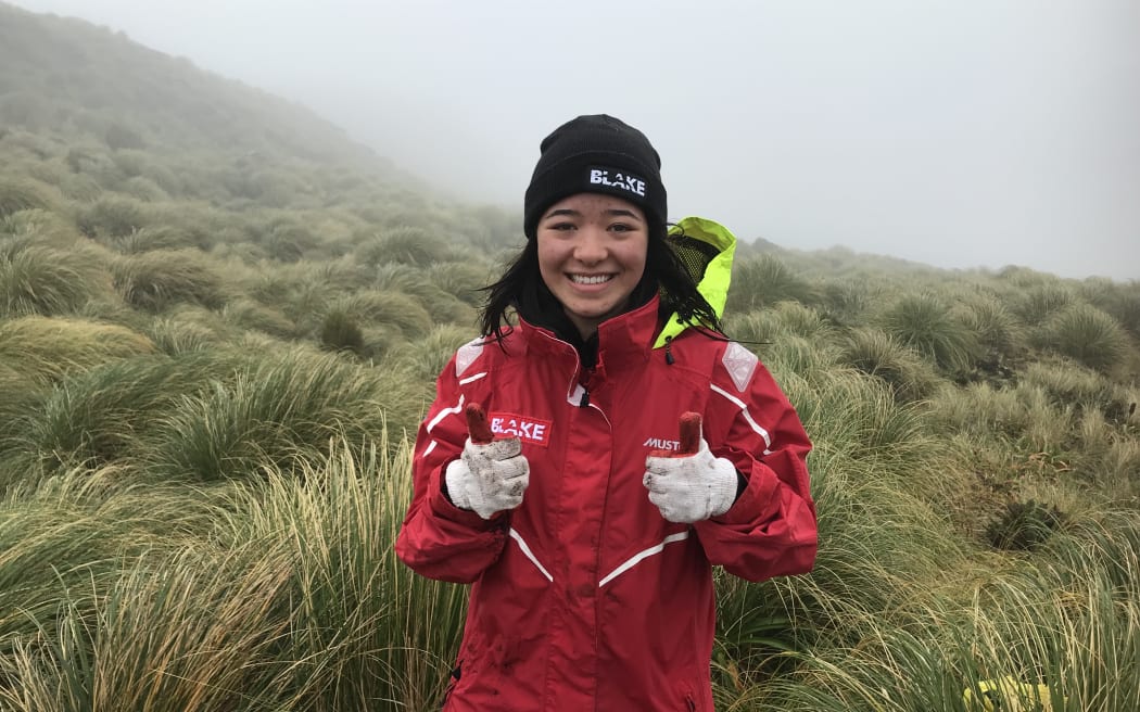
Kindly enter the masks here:
<path id="1" fill-rule="evenodd" d="M 530 484 L 530 463 L 518 437 L 475 444 L 467 439 L 463 455 L 447 466 L 447 493 L 459 509 L 472 509 L 484 519 L 514 509 Z"/>

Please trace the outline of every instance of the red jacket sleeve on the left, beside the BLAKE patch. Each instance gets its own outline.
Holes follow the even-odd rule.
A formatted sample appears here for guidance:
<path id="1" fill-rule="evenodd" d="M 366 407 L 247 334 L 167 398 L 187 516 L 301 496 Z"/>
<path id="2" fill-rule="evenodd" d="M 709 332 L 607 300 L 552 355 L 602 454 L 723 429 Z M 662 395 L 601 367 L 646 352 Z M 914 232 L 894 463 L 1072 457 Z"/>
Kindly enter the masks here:
<path id="1" fill-rule="evenodd" d="M 396 555 L 430 579 L 471 583 L 494 564 L 506 542 L 507 514 L 489 521 L 459 509 L 443 493 L 447 465 L 459 457 L 467 440 L 455 359 L 435 384 L 435 401 L 420 424 L 412 460 L 414 490 Z"/>

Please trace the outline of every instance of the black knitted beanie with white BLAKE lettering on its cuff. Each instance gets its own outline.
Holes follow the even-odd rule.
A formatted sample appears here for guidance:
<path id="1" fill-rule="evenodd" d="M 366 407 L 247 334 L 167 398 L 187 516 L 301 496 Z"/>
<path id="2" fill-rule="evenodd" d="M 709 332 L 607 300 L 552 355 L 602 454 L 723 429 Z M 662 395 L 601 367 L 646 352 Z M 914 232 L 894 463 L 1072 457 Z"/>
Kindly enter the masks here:
<path id="1" fill-rule="evenodd" d="M 571 195 L 603 193 L 629 200 L 661 224 L 668 213 L 661 157 L 645 134 L 605 114 L 568 121 L 543 139 L 527 187 L 523 230 L 534 239 L 543 213 Z"/>

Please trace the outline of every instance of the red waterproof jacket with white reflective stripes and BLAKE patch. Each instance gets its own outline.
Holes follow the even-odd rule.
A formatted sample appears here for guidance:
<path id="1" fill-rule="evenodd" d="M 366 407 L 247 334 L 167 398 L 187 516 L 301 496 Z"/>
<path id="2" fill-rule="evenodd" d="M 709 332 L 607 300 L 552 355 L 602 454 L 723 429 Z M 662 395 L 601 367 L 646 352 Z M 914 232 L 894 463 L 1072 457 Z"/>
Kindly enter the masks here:
<path id="1" fill-rule="evenodd" d="M 669 363 L 651 347 L 657 310 L 601 325 L 588 395 L 575 349 L 527 324 L 505 351 L 463 346 L 440 375 L 396 550 L 425 576 L 473 584 L 446 710 L 712 710 L 712 565 L 750 581 L 811 570 L 811 443 L 795 410 L 739 344 L 689 329 Z M 441 489 L 471 401 L 530 463 L 522 505 L 489 522 Z M 663 519 L 642 485 L 686 410 L 748 481 L 726 514 L 693 525 Z"/>

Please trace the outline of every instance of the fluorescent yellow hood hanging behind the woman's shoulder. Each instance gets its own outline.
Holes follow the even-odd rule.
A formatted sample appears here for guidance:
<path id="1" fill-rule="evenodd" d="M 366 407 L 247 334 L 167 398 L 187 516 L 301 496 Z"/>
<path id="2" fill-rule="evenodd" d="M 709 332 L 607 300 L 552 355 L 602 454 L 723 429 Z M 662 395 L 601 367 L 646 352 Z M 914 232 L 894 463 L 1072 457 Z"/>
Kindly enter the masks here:
<path id="1" fill-rule="evenodd" d="M 703 248 L 686 249 L 684 238 L 703 243 Z M 736 253 L 736 236 L 718 222 L 705 218 L 684 218 L 669 228 L 669 239 L 682 254 L 682 262 L 697 281 L 697 290 L 709 303 L 717 317 L 724 313 L 724 303 L 728 298 L 728 284 L 732 281 L 732 259 Z M 711 256 L 709 256 L 711 255 Z M 674 313 L 658 334 L 654 349 L 660 349 L 669 338 L 675 338 L 690 325 L 682 324 Z"/>

